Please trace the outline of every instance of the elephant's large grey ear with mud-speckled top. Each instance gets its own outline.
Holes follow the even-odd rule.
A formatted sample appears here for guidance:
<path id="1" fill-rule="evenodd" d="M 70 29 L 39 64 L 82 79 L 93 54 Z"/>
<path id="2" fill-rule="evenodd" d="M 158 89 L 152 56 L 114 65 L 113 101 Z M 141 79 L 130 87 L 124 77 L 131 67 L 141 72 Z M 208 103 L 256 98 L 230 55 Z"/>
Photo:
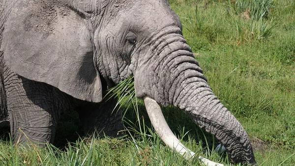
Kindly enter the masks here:
<path id="1" fill-rule="evenodd" d="M 87 20 L 66 6 L 48 3 L 20 0 L 14 6 L 0 48 L 6 65 L 74 98 L 100 102 L 102 87 Z"/>

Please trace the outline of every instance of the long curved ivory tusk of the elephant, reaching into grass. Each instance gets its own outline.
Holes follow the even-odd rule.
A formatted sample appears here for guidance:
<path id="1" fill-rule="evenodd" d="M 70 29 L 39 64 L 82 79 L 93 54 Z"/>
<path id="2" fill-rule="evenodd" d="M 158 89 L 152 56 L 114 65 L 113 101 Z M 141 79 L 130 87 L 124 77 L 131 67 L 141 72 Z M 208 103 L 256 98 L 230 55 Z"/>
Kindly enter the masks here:
<path id="1" fill-rule="evenodd" d="M 185 147 L 170 130 L 159 104 L 148 97 L 144 98 L 148 117 L 156 133 L 161 137 L 163 142 L 171 149 L 177 151 L 185 159 L 194 158 L 195 153 Z M 223 166 L 222 164 L 212 162 L 204 157 L 199 156 L 199 160 L 205 166 Z"/>

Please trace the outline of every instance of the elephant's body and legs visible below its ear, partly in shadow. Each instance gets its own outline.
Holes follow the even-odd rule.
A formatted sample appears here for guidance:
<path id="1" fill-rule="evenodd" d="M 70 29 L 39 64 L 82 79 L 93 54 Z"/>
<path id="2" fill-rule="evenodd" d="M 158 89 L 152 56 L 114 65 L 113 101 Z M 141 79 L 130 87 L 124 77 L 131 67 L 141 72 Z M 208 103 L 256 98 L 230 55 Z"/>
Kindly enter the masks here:
<path id="1" fill-rule="evenodd" d="M 75 99 L 58 88 L 12 72 L 5 66 L 3 55 L 0 61 L 0 122 L 1 126 L 10 124 L 15 142 L 53 143 L 60 114 L 72 109 L 78 111 L 85 133 L 97 130 L 113 137 L 121 135 L 122 115 L 120 111 L 112 114 L 116 100 L 92 103 Z"/>

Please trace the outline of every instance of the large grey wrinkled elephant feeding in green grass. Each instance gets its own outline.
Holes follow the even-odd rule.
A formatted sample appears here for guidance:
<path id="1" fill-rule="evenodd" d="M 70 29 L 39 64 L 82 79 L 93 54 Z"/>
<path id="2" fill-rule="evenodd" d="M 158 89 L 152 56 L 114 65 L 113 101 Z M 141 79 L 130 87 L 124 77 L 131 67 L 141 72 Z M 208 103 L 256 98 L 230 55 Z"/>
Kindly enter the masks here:
<path id="1" fill-rule="evenodd" d="M 247 133 L 212 92 L 167 0 L 0 0 L 0 124 L 15 143 L 52 143 L 60 114 L 74 108 L 85 132 L 120 135 L 122 114 L 104 96 L 130 76 L 169 147 L 177 150 L 177 138 L 162 127 L 158 104 L 189 114 L 233 162 L 256 164 Z M 177 151 L 194 155 L 182 145 Z"/>

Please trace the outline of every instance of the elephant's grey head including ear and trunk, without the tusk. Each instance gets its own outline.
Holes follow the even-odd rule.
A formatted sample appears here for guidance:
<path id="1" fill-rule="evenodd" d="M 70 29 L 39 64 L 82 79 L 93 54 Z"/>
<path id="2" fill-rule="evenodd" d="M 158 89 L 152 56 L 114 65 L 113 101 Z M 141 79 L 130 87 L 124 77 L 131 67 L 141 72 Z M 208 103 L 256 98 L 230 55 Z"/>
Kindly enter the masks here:
<path id="1" fill-rule="evenodd" d="M 134 75 L 136 96 L 147 105 L 151 98 L 181 108 L 234 162 L 256 163 L 248 135 L 213 94 L 167 0 L 10 3 L 1 50 L 17 74 L 91 102 Z"/>

